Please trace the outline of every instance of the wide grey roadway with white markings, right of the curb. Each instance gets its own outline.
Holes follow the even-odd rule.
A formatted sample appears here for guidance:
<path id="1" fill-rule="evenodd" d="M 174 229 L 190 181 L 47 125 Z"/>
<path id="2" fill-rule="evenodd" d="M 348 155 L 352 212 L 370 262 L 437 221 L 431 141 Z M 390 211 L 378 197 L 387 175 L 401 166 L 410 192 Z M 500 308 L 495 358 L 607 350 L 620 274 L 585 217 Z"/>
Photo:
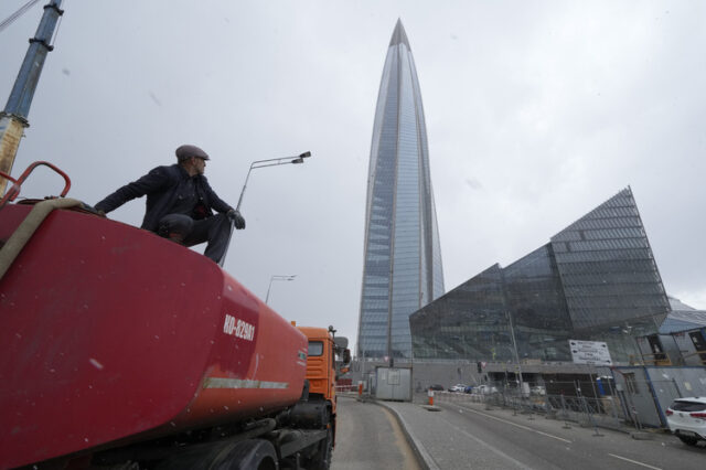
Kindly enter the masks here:
<path id="1" fill-rule="evenodd" d="M 571 425 L 481 404 L 441 404 L 427 412 L 387 404 L 403 417 L 431 468 L 456 469 L 704 469 L 706 448 L 689 448 L 668 435 L 635 440 L 630 435 Z"/>

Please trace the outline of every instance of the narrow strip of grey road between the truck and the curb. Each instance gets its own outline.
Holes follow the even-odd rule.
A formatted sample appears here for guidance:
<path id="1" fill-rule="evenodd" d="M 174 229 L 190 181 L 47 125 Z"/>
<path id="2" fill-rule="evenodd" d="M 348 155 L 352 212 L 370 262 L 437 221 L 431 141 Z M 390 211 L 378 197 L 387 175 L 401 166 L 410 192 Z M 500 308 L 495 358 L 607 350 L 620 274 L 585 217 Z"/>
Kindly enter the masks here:
<path id="1" fill-rule="evenodd" d="M 419 466 L 388 409 L 340 396 L 331 469 L 417 470 Z"/>

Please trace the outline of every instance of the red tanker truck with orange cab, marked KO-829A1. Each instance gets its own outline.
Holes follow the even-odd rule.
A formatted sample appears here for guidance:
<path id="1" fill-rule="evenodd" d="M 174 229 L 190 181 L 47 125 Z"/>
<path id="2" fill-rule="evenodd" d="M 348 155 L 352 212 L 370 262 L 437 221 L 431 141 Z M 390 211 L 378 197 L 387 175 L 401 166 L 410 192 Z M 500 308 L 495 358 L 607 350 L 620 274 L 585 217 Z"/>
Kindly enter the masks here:
<path id="1" fill-rule="evenodd" d="M 34 165 L 0 202 L 0 468 L 328 468 L 345 339 L 78 201 L 11 203 Z"/>

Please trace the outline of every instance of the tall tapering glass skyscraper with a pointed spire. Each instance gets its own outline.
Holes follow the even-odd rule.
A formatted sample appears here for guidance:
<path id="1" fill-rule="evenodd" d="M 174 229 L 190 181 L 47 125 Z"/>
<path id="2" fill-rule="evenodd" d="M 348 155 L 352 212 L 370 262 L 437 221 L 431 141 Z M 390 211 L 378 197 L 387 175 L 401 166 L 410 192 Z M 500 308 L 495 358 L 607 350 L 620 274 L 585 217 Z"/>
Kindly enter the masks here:
<path id="1" fill-rule="evenodd" d="M 421 94 L 398 20 L 383 68 L 371 145 L 359 354 L 411 357 L 409 316 L 442 293 Z"/>

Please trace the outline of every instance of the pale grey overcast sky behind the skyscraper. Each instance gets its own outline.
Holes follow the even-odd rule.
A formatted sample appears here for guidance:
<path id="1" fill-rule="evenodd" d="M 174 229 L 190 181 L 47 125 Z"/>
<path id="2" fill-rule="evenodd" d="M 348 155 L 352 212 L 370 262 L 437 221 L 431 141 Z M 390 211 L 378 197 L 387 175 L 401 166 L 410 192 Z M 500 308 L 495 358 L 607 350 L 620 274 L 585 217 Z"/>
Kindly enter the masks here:
<path id="1" fill-rule="evenodd" d="M 25 0 L 0 2 L 0 19 Z M 0 32 L 0 99 L 42 14 Z M 14 174 L 94 204 L 181 143 L 247 228 L 225 268 L 300 324 L 357 334 L 365 191 L 397 18 L 427 119 L 446 289 L 631 185 L 667 292 L 706 308 L 706 2 L 67 0 Z M 39 170 L 38 170 L 39 172 Z M 49 191 L 47 188 L 55 188 Z M 56 194 L 40 172 L 23 195 Z M 141 222 L 143 200 L 110 217 Z"/>

